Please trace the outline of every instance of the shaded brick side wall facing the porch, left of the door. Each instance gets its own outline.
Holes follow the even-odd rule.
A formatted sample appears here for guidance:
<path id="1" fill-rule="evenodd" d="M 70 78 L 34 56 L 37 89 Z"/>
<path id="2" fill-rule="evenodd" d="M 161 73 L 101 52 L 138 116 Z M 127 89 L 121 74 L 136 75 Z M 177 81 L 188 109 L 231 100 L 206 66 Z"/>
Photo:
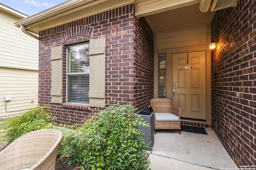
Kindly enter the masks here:
<path id="1" fill-rule="evenodd" d="M 149 111 L 154 97 L 154 34 L 144 18 L 134 22 L 134 105 Z"/>

